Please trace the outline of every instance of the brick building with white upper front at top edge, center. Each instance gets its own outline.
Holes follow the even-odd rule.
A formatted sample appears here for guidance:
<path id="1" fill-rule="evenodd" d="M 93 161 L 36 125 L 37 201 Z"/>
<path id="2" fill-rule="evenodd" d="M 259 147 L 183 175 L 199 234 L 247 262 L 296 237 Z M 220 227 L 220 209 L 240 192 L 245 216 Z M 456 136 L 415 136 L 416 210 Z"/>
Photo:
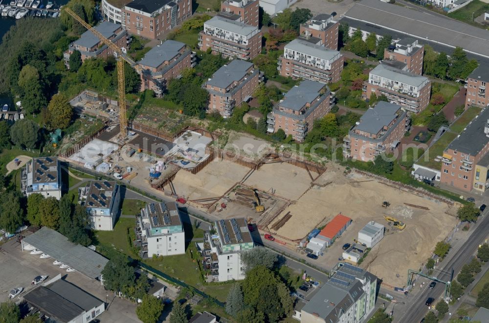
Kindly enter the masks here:
<path id="1" fill-rule="evenodd" d="M 258 0 L 225 0 L 221 3 L 221 12 L 219 15 L 224 18 L 258 27 Z"/>

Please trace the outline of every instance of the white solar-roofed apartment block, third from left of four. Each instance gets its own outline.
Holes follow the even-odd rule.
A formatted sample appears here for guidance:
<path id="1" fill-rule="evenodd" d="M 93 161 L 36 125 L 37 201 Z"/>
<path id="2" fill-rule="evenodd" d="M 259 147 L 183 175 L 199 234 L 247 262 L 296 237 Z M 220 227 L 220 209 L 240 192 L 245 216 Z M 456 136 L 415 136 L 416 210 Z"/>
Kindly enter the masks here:
<path id="1" fill-rule="evenodd" d="M 176 202 L 148 203 L 137 217 L 136 246 L 142 258 L 185 254 L 185 231 Z"/>

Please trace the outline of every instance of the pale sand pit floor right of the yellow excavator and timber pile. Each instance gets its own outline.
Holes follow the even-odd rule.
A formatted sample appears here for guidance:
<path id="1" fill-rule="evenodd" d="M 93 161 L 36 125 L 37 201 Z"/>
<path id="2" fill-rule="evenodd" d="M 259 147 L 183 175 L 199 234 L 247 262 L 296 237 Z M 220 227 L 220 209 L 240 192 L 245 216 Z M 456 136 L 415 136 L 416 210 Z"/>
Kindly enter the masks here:
<path id="1" fill-rule="evenodd" d="M 317 176 L 314 172 L 311 174 Z M 266 192 L 273 190 L 276 195 L 297 200 L 311 186 L 311 177 L 304 168 L 282 162 L 261 166 L 244 184 Z"/>

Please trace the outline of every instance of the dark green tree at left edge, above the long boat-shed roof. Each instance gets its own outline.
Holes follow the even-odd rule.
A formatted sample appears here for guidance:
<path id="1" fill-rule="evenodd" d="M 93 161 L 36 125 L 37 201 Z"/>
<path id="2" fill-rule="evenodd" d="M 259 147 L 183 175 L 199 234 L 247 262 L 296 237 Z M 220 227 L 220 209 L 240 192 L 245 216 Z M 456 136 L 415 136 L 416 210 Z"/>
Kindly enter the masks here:
<path id="1" fill-rule="evenodd" d="M 23 224 L 24 214 L 21 197 L 17 191 L 2 192 L 0 195 L 0 229 L 14 233 Z"/>

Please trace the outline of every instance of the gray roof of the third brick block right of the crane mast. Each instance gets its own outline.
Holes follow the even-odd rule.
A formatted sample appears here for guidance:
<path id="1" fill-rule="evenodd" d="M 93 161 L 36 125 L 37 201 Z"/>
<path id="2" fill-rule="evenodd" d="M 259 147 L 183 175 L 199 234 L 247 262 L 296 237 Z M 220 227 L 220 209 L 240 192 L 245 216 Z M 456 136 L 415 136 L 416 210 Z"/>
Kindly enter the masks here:
<path id="1" fill-rule="evenodd" d="M 304 80 L 285 93 L 284 100 L 279 103 L 280 107 L 299 111 L 319 96 L 319 91 L 324 87 L 323 83 Z"/>

